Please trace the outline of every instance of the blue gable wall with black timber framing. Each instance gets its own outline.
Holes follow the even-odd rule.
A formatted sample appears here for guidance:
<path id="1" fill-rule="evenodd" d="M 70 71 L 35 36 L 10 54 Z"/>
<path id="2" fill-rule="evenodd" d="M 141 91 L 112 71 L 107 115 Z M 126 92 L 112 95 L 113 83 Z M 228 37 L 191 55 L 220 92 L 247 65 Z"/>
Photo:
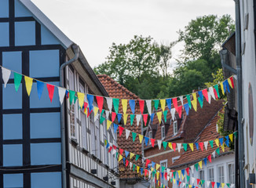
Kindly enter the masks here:
<path id="1" fill-rule="evenodd" d="M 3 67 L 59 85 L 64 60 L 64 47 L 19 0 L 0 0 Z M 38 99 L 34 82 L 28 97 L 24 79 L 16 92 L 11 74 L 6 88 L 2 82 L 0 98 L 0 187 L 61 187 L 57 89 L 50 103 L 46 85 Z"/>

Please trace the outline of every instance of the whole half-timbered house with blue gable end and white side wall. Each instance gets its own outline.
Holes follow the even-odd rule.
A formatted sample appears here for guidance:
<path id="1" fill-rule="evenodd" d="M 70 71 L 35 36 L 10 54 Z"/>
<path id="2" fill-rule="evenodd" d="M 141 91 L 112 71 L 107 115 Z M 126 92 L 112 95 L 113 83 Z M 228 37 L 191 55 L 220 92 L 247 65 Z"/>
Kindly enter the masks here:
<path id="1" fill-rule="evenodd" d="M 0 1 L 0 65 L 51 85 L 63 81 L 75 92 L 108 96 L 78 46 L 28 0 Z M 61 107 L 57 89 L 51 102 L 46 84 L 41 99 L 35 80 L 30 96 L 24 79 L 17 92 L 14 85 L 12 73 L 0 89 L 0 187 L 119 186 L 117 162 L 104 149 L 104 139 L 115 143 L 116 137 L 104 123 L 93 113 L 87 117 L 78 102 L 64 99 Z"/>

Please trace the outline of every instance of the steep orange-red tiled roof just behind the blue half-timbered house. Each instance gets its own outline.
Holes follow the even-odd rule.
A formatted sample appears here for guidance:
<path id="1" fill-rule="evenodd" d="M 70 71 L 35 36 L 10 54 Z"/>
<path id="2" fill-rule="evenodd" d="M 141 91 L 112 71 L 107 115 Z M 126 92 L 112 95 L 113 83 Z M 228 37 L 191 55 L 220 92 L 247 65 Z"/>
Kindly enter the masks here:
<path id="1" fill-rule="evenodd" d="M 114 81 L 108 75 L 102 74 L 102 75 L 97 75 L 97 77 L 101 81 L 102 85 L 104 86 L 104 88 L 106 89 L 106 91 L 108 92 L 108 95 L 110 97 L 117 98 L 117 99 L 140 99 L 133 92 L 130 92 L 128 89 L 123 87 L 123 85 L 120 85 L 118 82 Z M 139 114 L 140 110 L 139 110 L 138 104 L 136 105 L 135 109 L 136 109 L 135 114 Z M 121 100 L 119 103 L 119 113 L 123 113 L 123 107 L 122 107 Z M 129 104 L 127 105 L 126 113 L 132 114 Z M 134 118 L 132 126 L 130 125 L 129 117 L 127 119 L 126 125 L 122 125 L 122 126 L 124 126 L 125 128 L 129 129 L 132 132 L 137 132 L 137 134 L 141 134 L 141 124 L 139 126 L 137 126 L 136 118 Z M 122 148 L 123 150 L 128 150 L 130 152 L 133 152 L 134 154 L 141 155 L 141 143 L 139 143 L 139 140 L 135 139 L 135 141 L 133 142 L 131 136 L 128 139 L 126 139 L 125 135 L 126 135 L 125 130 L 123 131 L 123 134 L 121 137 L 119 136 L 119 133 L 118 133 L 119 147 Z M 125 157 L 125 154 L 123 154 L 123 157 Z M 134 164 L 142 166 L 141 160 L 135 161 L 134 158 L 135 157 L 133 157 L 133 160 L 131 160 L 131 161 Z M 132 170 L 130 170 L 129 167 L 126 168 L 123 165 L 122 161 L 119 163 L 119 173 L 120 173 L 120 179 L 134 179 L 137 177 L 137 173 L 132 172 Z"/>

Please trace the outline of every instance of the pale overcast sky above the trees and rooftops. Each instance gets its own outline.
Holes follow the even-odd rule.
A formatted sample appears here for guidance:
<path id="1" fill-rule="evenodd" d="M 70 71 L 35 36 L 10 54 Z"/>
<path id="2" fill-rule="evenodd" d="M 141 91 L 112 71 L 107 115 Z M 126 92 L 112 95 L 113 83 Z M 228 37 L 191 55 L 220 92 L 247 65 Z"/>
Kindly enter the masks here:
<path id="1" fill-rule="evenodd" d="M 134 35 L 168 44 L 197 16 L 230 14 L 233 0 L 32 0 L 61 31 L 79 45 L 91 67 L 104 63 L 112 43 Z M 172 66 L 183 49 L 174 46 Z"/>

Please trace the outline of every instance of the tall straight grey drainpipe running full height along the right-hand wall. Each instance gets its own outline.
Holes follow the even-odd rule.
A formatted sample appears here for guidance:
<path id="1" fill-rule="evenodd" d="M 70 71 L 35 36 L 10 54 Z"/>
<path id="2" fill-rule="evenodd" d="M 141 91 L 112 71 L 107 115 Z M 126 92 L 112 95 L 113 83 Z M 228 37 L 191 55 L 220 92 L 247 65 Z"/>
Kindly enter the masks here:
<path id="1" fill-rule="evenodd" d="M 238 108 L 238 152 L 239 152 L 239 173 L 240 188 L 245 187 L 244 177 L 244 139 L 243 139 L 243 98 L 242 98 L 242 67 L 241 67 L 241 26 L 240 26 L 240 0 L 236 4 L 236 71 L 237 71 L 237 108 Z"/>

